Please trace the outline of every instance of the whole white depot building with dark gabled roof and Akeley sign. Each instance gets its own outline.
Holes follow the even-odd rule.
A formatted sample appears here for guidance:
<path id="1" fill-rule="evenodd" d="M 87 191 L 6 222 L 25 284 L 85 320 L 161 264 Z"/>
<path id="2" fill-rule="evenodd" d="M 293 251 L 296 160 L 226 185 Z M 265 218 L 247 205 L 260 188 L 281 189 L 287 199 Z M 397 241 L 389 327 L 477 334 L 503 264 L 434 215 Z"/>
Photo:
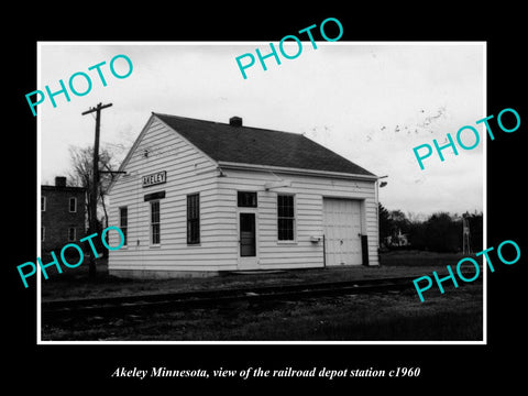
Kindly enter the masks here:
<path id="1" fill-rule="evenodd" d="M 378 264 L 377 176 L 301 134 L 153 112 L 120 170 L 111 275 Z"/>

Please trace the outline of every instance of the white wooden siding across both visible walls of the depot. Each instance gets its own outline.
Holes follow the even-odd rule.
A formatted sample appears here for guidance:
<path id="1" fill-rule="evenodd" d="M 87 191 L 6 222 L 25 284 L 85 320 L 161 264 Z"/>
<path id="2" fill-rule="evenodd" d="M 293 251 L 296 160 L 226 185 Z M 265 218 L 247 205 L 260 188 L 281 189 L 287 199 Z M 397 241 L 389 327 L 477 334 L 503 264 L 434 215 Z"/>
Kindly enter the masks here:
<path id="1" fill-rule="evenodd" d="M 148 155 L 145 156 L 145 150 Z M 110 193 L 109 224 L 119 227 L 119 207 L 128 207 L 128 246 L 110 251 L 109 270 L 233 271 L 238 270 L 239 235 L 237 191 L 257 191 L 256 239 L 258 268 L 321 267 L 321 243 L 310 237 L 323 234 L 323 198 L 362 200 L 369 235 L 370 264 L 378 264 L 377 202 L 375 183 L 331 177 L 287 175 L 262 170 L 224 169 L 178 133 L 152 117 L 122 170 L 127 172 Z M 166 170 L 165 184 L 142 187 L 142 177 Z M 266 191 L 264 185 L 278 178 L 290 187 Z M 144 195 L 165 191 L 160 200 L 161 244 L 150 244 L 150 202 Z M 200 194 L 200 243 L 187 245 L 187 195 Z M 277 193 L 295 195 L 295 241 L 277 240 Z M 109 233 L 110 245 L 119 243 Z"/>

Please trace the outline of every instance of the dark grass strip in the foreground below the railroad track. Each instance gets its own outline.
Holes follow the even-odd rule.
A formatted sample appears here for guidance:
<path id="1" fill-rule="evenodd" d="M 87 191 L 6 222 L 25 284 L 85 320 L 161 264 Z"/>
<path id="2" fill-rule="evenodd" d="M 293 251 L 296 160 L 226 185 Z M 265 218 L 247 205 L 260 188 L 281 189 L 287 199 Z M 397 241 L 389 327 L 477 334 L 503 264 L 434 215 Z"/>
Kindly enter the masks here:
<path id="1" fill-rule="evenodd" d="M 43 340 L 120 341 L 479 341 L 482 284 L 416 293 L 235 302 L 220 308 L 44 323 Z M 66 329 L 67 328 L 67 329 Z"/>

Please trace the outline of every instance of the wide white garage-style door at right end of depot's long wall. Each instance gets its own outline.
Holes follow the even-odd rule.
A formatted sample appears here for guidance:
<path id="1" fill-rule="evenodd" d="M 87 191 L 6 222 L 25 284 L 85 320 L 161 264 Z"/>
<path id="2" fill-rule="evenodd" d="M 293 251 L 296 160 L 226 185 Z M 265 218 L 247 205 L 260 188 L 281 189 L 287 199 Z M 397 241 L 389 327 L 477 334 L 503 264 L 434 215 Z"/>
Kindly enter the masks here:
<path id="1" fill-rule="evenodd" d="M 327 265 L 361 265 L 361 201 L 323 198 Z"/>

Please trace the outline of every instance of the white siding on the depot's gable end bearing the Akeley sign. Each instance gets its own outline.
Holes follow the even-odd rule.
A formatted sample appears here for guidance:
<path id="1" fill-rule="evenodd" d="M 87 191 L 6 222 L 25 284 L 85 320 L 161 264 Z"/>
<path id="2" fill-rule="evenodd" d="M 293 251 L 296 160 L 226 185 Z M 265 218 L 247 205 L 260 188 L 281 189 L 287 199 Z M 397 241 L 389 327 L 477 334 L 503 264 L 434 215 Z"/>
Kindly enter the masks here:
<path id="1" fill-rule="evenodd" d="M 144 150 L 148 156 L 144 156 Z M 218 208 L 216 163 L 157 118 L 143 135 L 110 194 L 109 223 L 119 226 L 119 207 L 129 208 L 128 246 L 110 252 L 109 270 L 207 271 L 232 268 L 237 261 L 235 228 Z M 167 182 L 142 187 L 142 177 L 167 172 Z M 150 243 L 150 202 L 144 195 L 165 191 L 160 200 L 161 244 Z M 187 245 L 187 195 L 200 194 L 200 243 Z M 232 243 L 226 243 L 226 235 Z M 109 233 L 109 243 L 119 243 Z"/>

